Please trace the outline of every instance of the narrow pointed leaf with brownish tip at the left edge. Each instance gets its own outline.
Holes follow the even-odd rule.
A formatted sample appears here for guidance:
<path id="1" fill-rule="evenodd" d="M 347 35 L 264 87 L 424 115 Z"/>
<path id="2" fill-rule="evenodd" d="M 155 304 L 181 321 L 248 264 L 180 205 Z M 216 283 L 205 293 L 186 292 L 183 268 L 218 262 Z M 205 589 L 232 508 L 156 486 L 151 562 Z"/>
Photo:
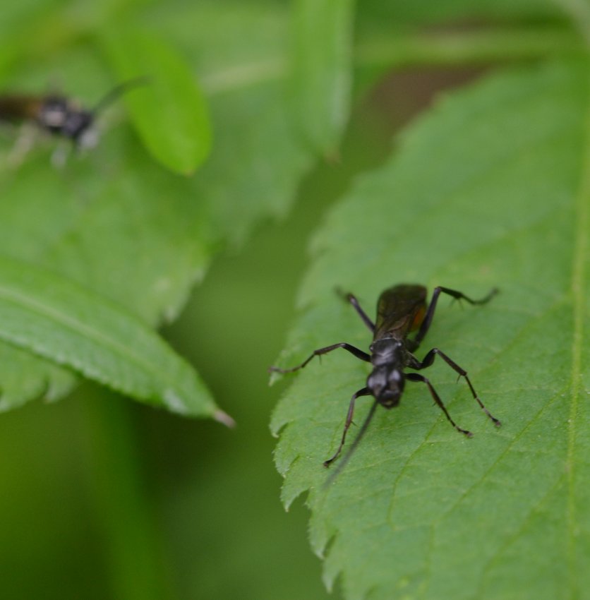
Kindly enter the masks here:
<path id="1" fill-rule="evenodd" d="M 150 404 L 223 420 L 193 368 L 114 302 L 6 257 L 0 281 L 1 340 Z"/>

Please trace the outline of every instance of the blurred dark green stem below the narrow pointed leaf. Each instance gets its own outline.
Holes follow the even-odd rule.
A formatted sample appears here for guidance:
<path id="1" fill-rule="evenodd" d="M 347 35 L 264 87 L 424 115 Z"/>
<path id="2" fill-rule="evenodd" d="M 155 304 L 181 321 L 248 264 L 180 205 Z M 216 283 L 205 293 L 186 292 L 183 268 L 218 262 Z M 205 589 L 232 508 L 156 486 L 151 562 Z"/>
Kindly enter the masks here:
<path id="1" fill-rule="evenodd" d="M 85 388 L 92 493 L 102 525 L 113 598 L 170 597 L 167 570 L 145 490 L 128 402 Z"/>

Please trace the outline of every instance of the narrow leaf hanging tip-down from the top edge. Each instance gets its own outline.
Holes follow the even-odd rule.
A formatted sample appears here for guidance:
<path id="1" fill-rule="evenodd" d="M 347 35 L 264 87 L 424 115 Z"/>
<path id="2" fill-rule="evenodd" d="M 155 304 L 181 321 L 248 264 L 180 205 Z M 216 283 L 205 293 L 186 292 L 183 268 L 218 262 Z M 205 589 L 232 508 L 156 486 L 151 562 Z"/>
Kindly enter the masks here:
<path id="1" fill-rule="evenodd" d="M 291 98 L 306 143 L 334 154 L 349 115 L 354 1 L 296 0 Z"/>

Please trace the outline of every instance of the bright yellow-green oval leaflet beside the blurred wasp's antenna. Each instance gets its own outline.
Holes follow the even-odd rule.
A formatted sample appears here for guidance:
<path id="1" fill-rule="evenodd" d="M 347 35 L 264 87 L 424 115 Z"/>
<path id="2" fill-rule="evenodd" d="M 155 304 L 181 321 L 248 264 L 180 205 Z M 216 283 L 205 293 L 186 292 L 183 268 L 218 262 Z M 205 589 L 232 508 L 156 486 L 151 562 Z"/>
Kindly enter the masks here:
<path id="1" fill-rule="evenodd" d="M 124 100 L 147 148 L 172 171 L 193 172 L 209 153 L 211 128 L 191 66 L 162 38 L 129 25 L 104 35 L 104 46 L 121 80 L 145 77 Z"/>

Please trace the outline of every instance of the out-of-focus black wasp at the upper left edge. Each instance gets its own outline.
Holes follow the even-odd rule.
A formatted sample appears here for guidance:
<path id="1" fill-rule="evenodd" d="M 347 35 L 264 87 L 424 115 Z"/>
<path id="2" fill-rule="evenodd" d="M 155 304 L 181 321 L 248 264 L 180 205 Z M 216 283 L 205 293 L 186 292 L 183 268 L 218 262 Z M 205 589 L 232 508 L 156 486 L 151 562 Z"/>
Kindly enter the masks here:
<path id="1" fill-rule="evenodd" d="M 94 127 L 97 114 L 131 88 L 145 83 L 145 78 L 135 78 L 116 85 L 92 109 L 60 94 L 2 94 L 0 120 L 32 122 L 42 131 L 71 140 L 78 149 L 92 148 L 97 142 Z"/>

